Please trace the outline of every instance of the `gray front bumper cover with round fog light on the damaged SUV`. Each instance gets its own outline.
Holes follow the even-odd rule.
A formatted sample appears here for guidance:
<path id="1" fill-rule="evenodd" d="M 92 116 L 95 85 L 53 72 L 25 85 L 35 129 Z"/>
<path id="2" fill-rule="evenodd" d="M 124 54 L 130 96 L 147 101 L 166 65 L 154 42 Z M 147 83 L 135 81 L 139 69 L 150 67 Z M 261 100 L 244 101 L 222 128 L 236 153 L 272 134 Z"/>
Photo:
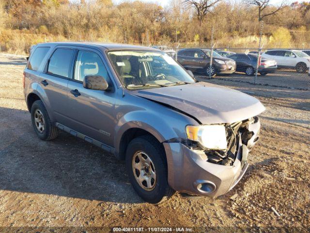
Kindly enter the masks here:
<path id="1" fill-rule="evenodd" d="M 230 191 L 244 176 L 248 152 L 256 144 L 260 133 L 260 122 L 249 129 L 254 134 L 247 145 L 239 143 L 232 166 L 208 162 L 201 153 L 182 143 L 163 143 L 168 163 L 168 183 L 176 191 L 191 195 L 218 197 Z M 201 189 L 201 184 L 207 184 Z"/>

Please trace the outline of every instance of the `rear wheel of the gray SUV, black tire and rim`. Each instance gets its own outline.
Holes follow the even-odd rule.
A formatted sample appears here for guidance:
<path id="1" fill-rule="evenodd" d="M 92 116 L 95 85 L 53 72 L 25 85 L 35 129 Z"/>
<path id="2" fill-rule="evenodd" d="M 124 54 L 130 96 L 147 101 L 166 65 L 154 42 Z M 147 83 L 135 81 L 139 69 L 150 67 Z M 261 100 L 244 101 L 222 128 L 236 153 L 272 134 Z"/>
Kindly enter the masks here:
<path id="1" fill-rule="evenodd" d="M 57 137 L 58 128 L 52 124 L 41 100 L 34 101 L 31 106 L 31 121 L 35 133 L 41 140 L 48 141 Z"/>

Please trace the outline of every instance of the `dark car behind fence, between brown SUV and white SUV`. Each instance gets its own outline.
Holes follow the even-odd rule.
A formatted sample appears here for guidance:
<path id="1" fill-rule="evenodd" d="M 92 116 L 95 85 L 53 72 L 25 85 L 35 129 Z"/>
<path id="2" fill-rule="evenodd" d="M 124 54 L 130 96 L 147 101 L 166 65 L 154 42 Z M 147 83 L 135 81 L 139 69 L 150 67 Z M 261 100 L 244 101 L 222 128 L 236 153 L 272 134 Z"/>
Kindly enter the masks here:
<path id="1" fill-rule="evenodd" d="M 237 67 L 236 71 L 245 72 L 246 75 L 254 75 L 256 72 L 257 66 L 257 55 L 256 54 L 245 54 L 245 53 L 236 53 L 229 58 L 236 61 Z M 263 57 L 261 58 L 258 73 L 261 75 L 266 75 L 267 73 L 274 73 L 277 70 L 277 62 L 274 60 L 267 60 Z"/>

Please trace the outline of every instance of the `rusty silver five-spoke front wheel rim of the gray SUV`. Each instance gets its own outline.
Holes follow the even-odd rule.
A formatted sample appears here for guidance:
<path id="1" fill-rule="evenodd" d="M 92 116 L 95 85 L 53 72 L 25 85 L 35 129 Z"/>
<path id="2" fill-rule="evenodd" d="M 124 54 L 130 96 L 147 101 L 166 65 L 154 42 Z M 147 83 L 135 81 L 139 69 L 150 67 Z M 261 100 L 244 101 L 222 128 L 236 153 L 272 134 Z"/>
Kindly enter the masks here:
<path id="1" fill-rule="evenodd" d="M 144 190 L 151 191 L 156 185 L 155 166 L 151 158 L 142 151 L 138 151 L 132 158 L 132 170 L 136 181 Z"/>

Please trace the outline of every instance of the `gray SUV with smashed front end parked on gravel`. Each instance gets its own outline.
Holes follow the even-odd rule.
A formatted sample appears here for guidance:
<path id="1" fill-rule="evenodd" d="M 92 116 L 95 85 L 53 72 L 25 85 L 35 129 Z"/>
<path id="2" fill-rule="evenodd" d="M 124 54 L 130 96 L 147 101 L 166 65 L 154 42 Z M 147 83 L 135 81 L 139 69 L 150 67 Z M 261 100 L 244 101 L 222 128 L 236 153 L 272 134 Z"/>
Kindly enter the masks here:
<path id="1" fill-rule="evenodd" d="M 62 130 L 125 160 L 133 188 L 151 203 L 175 191 L 231 190 L 264 111 L 259 100 L 197 82 L 171 56 L 138 46 L 39 44 L 23 82 L 40 139 Z"/>

